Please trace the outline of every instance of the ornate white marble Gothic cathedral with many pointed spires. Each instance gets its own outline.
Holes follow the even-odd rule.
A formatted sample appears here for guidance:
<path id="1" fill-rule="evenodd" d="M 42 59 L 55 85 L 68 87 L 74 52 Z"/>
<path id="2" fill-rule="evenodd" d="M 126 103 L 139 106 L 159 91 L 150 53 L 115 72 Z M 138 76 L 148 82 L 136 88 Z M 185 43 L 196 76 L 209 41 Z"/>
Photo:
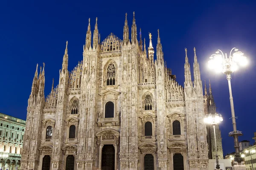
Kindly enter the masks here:
<path id="1" fill-rule="evenodd" d="M 90 19 L 83 59 L 68 71 L 67 45 L 58 85 L 44 95 L 38 65 L 28 99 L 22 170 L 208 170 L 215 155 L 212 91 L 203 85 L 194 48 L 193 80 L 185 48 L 184 85 L 166 68 L 160 33 L 146 45 L 135 16 L 123 40 L 102 42 Z M 147 46 L 147 47 L 146 47 Z M 156 51 L 156 52 L 155 52 Z M 154 59 L 155 58 L 155 59 Z M 223 157 L 216 127 L 218 155 Z"/>

